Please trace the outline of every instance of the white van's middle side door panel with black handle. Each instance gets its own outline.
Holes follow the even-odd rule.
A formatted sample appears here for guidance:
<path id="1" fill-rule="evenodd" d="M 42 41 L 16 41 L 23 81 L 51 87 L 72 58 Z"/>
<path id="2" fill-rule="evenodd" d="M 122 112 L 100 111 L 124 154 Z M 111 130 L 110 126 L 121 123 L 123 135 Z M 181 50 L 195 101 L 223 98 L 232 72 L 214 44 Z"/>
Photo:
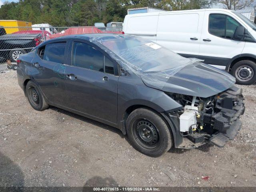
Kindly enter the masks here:
<path id="1" fill-rule="evenodd" d="M 204 12 L 159 13 L 157 43 L 182 56 L 198 57 Z"/>

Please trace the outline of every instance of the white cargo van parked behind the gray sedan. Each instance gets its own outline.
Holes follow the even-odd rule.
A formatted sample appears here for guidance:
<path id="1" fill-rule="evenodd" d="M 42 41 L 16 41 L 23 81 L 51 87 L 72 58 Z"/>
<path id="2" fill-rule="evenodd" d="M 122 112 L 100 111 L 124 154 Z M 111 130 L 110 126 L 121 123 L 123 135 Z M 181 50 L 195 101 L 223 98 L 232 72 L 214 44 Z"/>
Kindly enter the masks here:
<path id="1" fill-rule="evenodd" d="M 126 15 L 124 34 L 148 38 L 184 57 L 225 69 L 238 84 L 256 82 L 256 24 L 226 9 Z"/>

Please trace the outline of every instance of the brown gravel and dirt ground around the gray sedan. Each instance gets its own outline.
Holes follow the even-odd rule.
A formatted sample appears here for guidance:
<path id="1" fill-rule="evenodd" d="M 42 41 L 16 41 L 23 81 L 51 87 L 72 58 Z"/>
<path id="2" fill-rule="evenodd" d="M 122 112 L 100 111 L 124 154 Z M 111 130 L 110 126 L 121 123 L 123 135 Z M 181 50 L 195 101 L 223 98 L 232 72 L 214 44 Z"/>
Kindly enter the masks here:
<path id="1" fill-rule="evenodd" d="M 34 110 L 16 71 L 2 64 L 0 186 L 256 186 L 256 85 L 239 87 L 246 111 L 235 140 L 151 158 L 116 128 L 54 107 Z"/>

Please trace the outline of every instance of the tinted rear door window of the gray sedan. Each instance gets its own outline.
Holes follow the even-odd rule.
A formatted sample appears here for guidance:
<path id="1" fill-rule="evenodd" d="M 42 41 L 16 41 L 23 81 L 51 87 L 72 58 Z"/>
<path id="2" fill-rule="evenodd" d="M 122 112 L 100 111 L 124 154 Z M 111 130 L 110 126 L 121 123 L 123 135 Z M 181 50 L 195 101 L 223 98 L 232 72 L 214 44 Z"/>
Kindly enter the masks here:
<path id="1" fill-rule="evenodd" d="M 44 50 L 41 50 L 41 52 L 39 52 L 39 56 L 43 58 L 43 60 L 63 64 L 65 47 L 66 47 L 66 42 L 56 42 L 56 43 L 47 44 Z"/>

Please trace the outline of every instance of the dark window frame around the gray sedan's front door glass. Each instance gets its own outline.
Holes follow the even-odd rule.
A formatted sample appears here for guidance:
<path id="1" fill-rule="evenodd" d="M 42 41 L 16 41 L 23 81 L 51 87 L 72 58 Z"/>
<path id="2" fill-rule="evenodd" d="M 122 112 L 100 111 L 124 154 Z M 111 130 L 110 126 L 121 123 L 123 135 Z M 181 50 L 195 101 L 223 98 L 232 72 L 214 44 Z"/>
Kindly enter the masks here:
<path id="1" fill-rule="evenodd" d="M 83 67 L 78 67 L 78 66 L 74 66 L 73 65 L 73 48 L 74 48 L 74 42 L 81 42 L 81 43 L 85 43 L 85 44 L 88 44 L 90 46 L 92 46 L 93 48 L 95 48 L 96 50 L 98 50 L 99 52 L 102 53 L 102 55 L 104 56 L 103 58 L 103 68 L 104 68 L 104 72 L 101 72 L 101 71 L 96 71 L 96 70 L 92 70 L 92 69 L 87 69 L 87 68 L 83 68 Z M 102 51 L 100 48 L 98 48 L 97 46 L 95 46 L 94 44 L 90 43 L 90 42 L 87 42 L 86 40 L 79 40 L 79 39 L 74 39 L 72 40 L 72 43 L 70 43 L 70 46 L 71 46 L 71 53 L 70 53 L 70 62 L 71 62 L 71 67 L 77 67 L 77 68 L 80 68 L 80 69 L 84 69 L 84 70 L 90 70 L 90 71 L 94 71 L 94 72 L 100 72 L 100 73 L 103 73 L 103 74 L 108 74 L 108 75 L 111 75 L 111 76 L 119 76 L 119 74 L 117 73 L 116 74 L 116 70 L 115 70 L 115 61 L 110 58 L 110 56 L 108 56 L 106 54 L 106 52 Z M 106 73 L 105 72 L 105 57 L 107 57 L 110 61 L 112 61 L 113 63 L 113 67 L 114 67 L 114 74 L 110 74 L 110 73 Z"/>

